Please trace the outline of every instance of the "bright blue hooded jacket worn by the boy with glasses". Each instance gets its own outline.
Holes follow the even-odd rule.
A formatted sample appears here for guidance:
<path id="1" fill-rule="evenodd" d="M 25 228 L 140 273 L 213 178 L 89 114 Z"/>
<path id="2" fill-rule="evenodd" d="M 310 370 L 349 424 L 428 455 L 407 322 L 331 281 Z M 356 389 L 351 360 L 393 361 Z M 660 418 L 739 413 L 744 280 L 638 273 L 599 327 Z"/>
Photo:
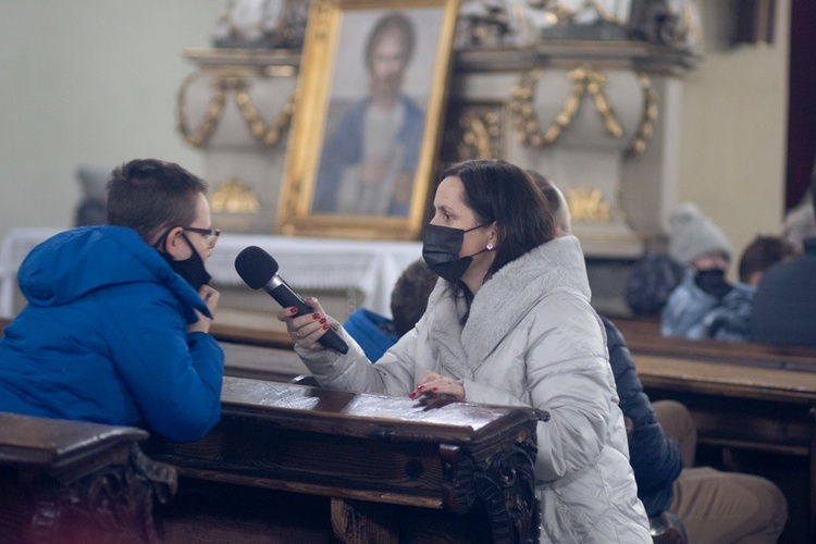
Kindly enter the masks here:
<path id="1" fill-rule="evenodd" d="M 135 231 L 60 233 L 18 272 L 28 305 L 0 339 L 0 410 L 136 425 L 176 442 L 219 421 L 224 354 L 187 334 L 195 289 Z"/>

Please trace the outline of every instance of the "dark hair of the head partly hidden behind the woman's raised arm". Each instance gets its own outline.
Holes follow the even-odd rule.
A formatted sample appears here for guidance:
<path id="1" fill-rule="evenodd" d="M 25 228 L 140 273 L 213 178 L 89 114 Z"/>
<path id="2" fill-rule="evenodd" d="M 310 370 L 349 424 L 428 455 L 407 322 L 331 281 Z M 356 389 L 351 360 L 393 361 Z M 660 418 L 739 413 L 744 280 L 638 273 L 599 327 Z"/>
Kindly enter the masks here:
<path id="1" fill-rule="evenodd" d="M 428 297 L 431 296 L 437 277 L 424 259 L 419 259 L 408 265 L 394 284 L 394 290 L 391 292 L 391 313 L 397 336 L 413 329 L 425 312 Z"/>

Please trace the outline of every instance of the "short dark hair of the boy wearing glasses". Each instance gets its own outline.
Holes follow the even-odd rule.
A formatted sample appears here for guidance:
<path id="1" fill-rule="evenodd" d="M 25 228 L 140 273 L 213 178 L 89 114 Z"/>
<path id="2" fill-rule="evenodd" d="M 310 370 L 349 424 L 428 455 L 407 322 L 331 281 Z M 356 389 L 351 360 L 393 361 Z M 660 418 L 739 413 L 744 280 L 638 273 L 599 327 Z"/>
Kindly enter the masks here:
<path id="1" fill-rule="evenodd" d="M 127 226 L 148 244 L 173 226 L 189 226 L 196 219 L 196 196 L 207 183 L 178 164 L 136 159 L 111 172 L 107 220 Z"/>

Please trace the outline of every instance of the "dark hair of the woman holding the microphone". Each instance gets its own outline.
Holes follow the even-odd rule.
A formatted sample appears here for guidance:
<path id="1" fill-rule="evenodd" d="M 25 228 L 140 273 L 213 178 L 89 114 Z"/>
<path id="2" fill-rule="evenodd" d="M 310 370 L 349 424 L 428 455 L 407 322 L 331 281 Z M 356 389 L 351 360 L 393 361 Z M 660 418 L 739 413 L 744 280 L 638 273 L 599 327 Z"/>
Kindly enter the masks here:
<path id="1" fill-rule="evenodd" d="M 440 180 L 458 177 L 462 198 L 478 224 L 496 222 L 498 244 L 485 280 L 508 262 L 555 238 L 555 221 L 539 187 L 522 169 L 505 161 L 478 159 L 445 170 Z M 467 288 L 459 287 L 470 298 Z"/>

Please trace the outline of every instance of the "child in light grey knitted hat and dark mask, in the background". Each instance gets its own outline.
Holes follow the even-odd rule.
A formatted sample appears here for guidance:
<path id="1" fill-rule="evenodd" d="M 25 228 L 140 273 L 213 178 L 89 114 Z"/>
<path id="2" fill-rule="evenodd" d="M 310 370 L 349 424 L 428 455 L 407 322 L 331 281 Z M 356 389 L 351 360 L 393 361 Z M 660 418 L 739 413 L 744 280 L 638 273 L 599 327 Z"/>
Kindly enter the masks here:
<path id="1" fill-rule="evenodd" d="M 731 260 L 726 235 L 692 202 L 678 206 L 669 225 L 669 255 L 688 271 L 663 309 L 663 334 L 747 341 L 754 288 L 726 279 Z"/>

